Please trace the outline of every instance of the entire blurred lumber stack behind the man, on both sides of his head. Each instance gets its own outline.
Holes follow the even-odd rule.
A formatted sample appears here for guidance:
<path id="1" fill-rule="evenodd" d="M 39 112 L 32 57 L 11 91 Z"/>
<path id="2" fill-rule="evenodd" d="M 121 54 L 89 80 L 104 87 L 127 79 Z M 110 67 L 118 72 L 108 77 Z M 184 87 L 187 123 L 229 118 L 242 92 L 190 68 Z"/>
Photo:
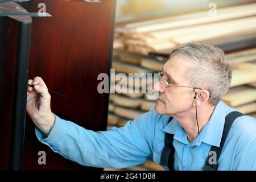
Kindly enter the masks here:
<path id="1" fill-rule="evenodd" d="M 224 44 L 232 47 L 236 40 L 254 39 L 255 9 L 256 3 L 251 3 L 219 9 L 216 18 L 210 18 L 207 11 L 124 24 L 116 28 L 112 68 L 116 74 L 157 73 L 168 57 L 156 56 L 158 54 L 151 52 L 171 52 L 175 47 L 191 40 L 218 47 Z M 246 47 L 241 44 L 240 48 L 240 51 L 226 53 L 226 57 L 233 62 L 233 76 L 230 90 L 222 101 L 256 118 L 256 45 Z M 118 80 L 112 81 L 118 83 Z M 141 88 L 143 84 L 127 82 L 126 86 Z M 125 126 L 127 121 L 137 118 L 154 106 L 154 94 L 148 93 L 152 85 L 146 86 L 147 93 L 120 93 L 116 89 L 116 93 L 110 94 L 109 127 Z M 163 168 L 149 160 L 129 169 Z"/>

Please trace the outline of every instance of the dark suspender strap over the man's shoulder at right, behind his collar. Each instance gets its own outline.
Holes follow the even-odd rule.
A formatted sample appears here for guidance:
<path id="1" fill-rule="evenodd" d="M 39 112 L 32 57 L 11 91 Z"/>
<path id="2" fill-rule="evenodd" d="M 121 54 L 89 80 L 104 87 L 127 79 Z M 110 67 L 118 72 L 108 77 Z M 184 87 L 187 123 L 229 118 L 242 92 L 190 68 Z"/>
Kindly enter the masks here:
<path id="1" fill-rule="evenodd" d="M 224 129 L 223 129 L 223 133 L 222 133 L 222 137 L 221 137 L 221 143 L 220 143 L 220 147 L 216 147 L 216 146 L 212 146 L 210 148 L 210 152 L 211 151 L 215 151 L 216 152 L 216 162 L 218 162 L 218 159 L 220 158 L 220 154 L 222 151 L 222 147 L 224 146 L 226 137 L 228 136 L 230 127 L 232 126 L 234 120 L 238 117 L 241 117 L 243 114 L 238 112 L 238 111 L 233 111 L 232 113 L 229 113 L 228 115 L 226 115 L 225 118 L 225 125 L 224 125 Z M 210 164 L 209 163 L 209 159 L 212 155 L 208 155 L 207 160 L 205 161 L 203 170 L 204 171 L 217 171 L 218 168 L 218 163 L 216 164 Z"/>

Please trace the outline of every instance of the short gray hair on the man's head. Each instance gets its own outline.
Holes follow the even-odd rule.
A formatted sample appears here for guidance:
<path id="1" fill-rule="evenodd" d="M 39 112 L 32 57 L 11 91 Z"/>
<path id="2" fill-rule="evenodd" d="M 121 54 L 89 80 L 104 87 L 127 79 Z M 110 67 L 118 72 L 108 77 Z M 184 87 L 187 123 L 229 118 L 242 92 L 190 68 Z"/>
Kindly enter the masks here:
<path id="1" fill-rule="evenodd" d="M 189 68 L 186 75 L 193 84 L 189 86 L 208 90 L 209 103 L 218 104 L 228 92 L 232 78 L 232 65 L 226 60 L 224 52 L 214 46 L 193 42 L 175 48 L 170 60 L 175 55 L 183 56 L 195 63 L 195 67 Z"/>

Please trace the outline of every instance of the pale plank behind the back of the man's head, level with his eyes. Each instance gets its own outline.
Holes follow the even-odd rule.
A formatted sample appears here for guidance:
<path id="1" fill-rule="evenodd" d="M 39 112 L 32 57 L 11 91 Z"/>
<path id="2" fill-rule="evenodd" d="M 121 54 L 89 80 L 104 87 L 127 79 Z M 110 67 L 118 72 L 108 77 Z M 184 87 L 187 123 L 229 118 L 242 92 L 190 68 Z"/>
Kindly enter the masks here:
<path id="1" fill-rule="evenodd" d="M 247 72 L 242 69 L 234 69 L 230 87 L 256 82 L 256 72 Z"/>

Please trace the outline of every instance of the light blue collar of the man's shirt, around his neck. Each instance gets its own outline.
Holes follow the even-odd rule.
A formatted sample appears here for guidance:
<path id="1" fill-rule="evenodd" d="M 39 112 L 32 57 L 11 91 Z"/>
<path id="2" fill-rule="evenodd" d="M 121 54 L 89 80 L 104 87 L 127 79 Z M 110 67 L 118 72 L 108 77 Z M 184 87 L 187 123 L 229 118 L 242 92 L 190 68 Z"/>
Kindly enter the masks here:
<path id="1" fill-rule="evenodd" d="M 187 134 L 177 119 L 172 119 L 164 128 L 163 131 L 166 133 L 174 134 L 174 139 L 183 142 L 189 146 L 199 146 L 201 142 L 207 143 L 211 146 L 220 146 L 222 132 L 224 129 L 225 117 L 227 111 L 230 109 L 228 105 L 220 101 L 210 117 L 207 124 L 201 130 L 200 134 L 189 143 Z"/>

